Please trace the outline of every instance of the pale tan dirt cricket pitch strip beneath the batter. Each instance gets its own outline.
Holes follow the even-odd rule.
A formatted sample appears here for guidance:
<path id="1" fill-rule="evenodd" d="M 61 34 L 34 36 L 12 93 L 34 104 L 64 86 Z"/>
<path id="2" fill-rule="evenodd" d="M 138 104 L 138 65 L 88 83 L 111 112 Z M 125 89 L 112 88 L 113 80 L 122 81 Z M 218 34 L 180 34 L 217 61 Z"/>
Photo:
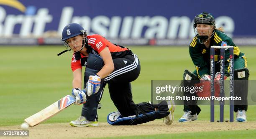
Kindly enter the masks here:
<path id="1" fill-rule="evenodd" d="M 239 128 L 236 128 L 239 127 Z M 256 129 L 256 121 L 245 123 L 210 123 L 210 121 L 193 121 L 179 123 L 174 121 L 172 125 L 165 125 L 162 120 L 151 121 L 136 126 L 111 126 L 108 123 L 99 123 L 97 127 L 72 127 L 69 123 L 40 124 L 29 128 L 29 137 L 23 139 L 82 139 L 114 136 L 133 136 L 150 134 L 172 134 L 203 131 L 230 131 Z M 0 130 L 21 130 L 20 126 L 2 126 Z M 6 137 L 14 139 L 15 137 Z M 1 137 L 3 139 L 3 137 Z"/>

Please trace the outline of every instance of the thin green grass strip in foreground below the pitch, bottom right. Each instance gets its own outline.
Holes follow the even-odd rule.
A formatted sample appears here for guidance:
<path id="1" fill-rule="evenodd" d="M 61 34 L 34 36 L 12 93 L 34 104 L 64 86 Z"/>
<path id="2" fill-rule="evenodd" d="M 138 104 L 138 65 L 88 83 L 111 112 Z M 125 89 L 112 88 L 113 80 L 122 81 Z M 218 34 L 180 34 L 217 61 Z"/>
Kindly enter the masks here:
<path id="1" fill-rule="evenodd" d="M 154 134 L 142 136 L 118 136 L 94 139 L 253 139 L 256 130 L 211 131 L 177 134 Z"/>

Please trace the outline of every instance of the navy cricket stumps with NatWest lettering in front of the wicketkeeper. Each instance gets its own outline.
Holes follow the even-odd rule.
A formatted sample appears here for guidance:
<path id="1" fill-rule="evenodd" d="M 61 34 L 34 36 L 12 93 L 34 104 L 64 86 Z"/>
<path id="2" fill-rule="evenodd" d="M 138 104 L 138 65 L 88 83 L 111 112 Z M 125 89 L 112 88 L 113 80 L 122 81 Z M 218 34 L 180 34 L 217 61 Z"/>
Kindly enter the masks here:
<path id="1" fill-rule="evenodd" d="M 234 79 L 233 79 L 233 72 L 234 72 L 234 48 L 233 46 L 211 46 L 210 48 L 210 76 L 211 76 L 211 96 L 214 96 L 214 78 L 215 78 L 215 49 L 220 49 L 220 97 L 225 97 L 224 94 L 224 67 L 225 67 L 225 50 L 229 49 L 229 87 L 230 87 L 230 97 L 234 95 Z M 229 114 L 230 114 L 230 122 L 234 121 L 234 101 L 230 100 L 229 104 Z M 210 101 L 210 121 L 214 122 L 214 100 Z M 220 122 L 224 121 L 224 101 L 220 101 Z"/>

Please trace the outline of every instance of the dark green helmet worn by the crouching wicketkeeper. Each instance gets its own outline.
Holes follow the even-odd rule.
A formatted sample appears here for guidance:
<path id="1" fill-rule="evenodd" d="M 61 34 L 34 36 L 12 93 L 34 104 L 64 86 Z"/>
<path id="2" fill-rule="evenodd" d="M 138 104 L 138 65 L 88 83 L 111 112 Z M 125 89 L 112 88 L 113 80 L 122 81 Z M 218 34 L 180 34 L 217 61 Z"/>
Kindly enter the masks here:
<path id="1" fill-rule="evenodd" d="M 195 16 L 194 19 L 194 28 L 197 28 L 197 24 L 207 24 L 207 25 L 214 25 L 215 26 L 215 20 L 212 14 L 203 12 L 199 15 Z"/>

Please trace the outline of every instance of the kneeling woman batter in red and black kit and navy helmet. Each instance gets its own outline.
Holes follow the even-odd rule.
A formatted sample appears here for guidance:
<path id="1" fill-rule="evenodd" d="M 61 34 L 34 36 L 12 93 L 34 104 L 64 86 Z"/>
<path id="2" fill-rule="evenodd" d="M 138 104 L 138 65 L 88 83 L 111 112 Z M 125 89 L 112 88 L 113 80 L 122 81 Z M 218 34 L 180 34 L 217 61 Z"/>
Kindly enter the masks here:
<path id="1" fill-rule="evenodd" d="M 131 81 L 138 78 L 141 67 L 138 57 L 130 49 L 110 43 L 101 35 L 87 35 L 86 30 L 77 23 L 64 27 L 61 40 L 67 48 L 66 51 L 73 52 L 72 95 L 75 97 L 75 104 L 83 104 L 81 116 L 71 121 L 71 126 L 98 125 L 97 108 L 100 108 L 99 102 L 106 83 L 110 98 L 119 111 L 108 115 L 109 124 L 135 125 L 164 117 L 165 124 L 172 124 L 174 112 L 172 102 L 162 101 L 160 104 L 133 102 Z M 82 88 L 83 66 L 86 66 L 84 89 Z"/>

